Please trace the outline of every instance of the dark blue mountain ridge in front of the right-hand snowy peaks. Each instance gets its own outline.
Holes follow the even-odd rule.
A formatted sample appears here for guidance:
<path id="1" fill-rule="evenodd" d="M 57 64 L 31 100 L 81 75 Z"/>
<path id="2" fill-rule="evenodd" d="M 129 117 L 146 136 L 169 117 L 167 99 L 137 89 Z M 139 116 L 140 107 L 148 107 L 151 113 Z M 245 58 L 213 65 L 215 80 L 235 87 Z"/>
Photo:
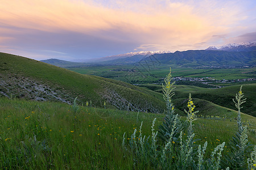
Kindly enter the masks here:
<path id="1" fill-rule="evenodd" d="M 177 66 L 244 66 L 256 65 L 256 51 L 226 52 L 222 50 L 187 50 L 166 54 L 154 54 L 154 59 L 162 65 Z M 152 61 L 152 56 L 143 59 Z M 142 61 L 142 62 L 143 62 Z"/>

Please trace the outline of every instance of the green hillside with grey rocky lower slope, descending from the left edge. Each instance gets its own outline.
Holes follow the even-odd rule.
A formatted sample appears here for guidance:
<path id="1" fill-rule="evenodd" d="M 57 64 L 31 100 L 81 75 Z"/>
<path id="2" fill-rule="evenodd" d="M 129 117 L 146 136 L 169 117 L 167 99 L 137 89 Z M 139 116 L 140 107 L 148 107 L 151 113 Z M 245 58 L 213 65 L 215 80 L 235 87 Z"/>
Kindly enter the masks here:
<path id="1" fill-rule="evenodd" d="M 162 112 L 161 95 L 128 83 L 82 75 L 33 59 L 0 53 L 0 94 L 34 100 L 72 103 L 92 101 L 131 111 Z M 136 97 L 134 97 L 136 96 Z M 142 102 L 143 101 L 143 102 Z"/>

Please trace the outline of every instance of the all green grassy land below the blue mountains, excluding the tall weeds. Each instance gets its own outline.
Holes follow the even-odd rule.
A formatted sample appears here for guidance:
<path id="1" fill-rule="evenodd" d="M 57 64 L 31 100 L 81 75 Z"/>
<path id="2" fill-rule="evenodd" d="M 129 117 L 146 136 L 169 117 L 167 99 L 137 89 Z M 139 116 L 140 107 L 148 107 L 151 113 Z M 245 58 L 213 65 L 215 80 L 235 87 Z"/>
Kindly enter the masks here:
<path id="1" fill-rule="evenodd" d="M 36 169 L 133 167 L 133 154 L 126 152 L 121 143 L 133 139 L 133 135 L 129 135 L 135 133 L 133 130 L 138 129 L 142 121 L 143 134 L 149 137 L 153 135 L 150 127 L 153 127 L 154 118 L 153 124 L 158 130 L 165 123 L 162 83 L 170 69 L 168 66 L 156 67 L 151 62 L 147 65 L 68 65 L 61 68 L 0 53 L 0 126 L 3 129 L 0 139 L 5 142 L 0 150 L 11 151 L 1 166 L 10 169 L 20 166 Z M 248 140 L 255 145 L 254 72 L 255 67 L 193 69 L 172 66 L 172 82 L 176 82 L 171 100 L 173 110 L 179 114 L 181 122 L 187 122 L 184 109 L 188 109 L 188 96 L 192 95 L 196 111 L 199 111 L 193 125 L 195 143 L 209 142 L 205 159 L 210 158 L 211 151 L 221 142 L 229 141 L 234 135 L 237 108 L 232 99 L 241 84 L 247 98 L 241 113 L 242 124 L 247 125 Z M 187 126 L 184 124 L 185 128 Z M 184 138 L 187 137 L 189 131 L 184 129 Z M 109 149 L 105 150 L 106 147 Z M 223 154 L 229 152 L 233 151 L 227 145 Z M 35 156 L 40 159 L 34 159 Z"/>

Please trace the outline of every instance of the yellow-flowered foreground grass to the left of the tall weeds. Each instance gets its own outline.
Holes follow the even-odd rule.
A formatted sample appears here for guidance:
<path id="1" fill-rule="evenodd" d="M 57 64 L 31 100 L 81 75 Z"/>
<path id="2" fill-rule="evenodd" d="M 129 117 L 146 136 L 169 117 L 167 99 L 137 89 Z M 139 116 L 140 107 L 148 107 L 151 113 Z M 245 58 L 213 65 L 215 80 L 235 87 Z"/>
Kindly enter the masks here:
<path id="1" fill-rule="evenodd" d="M 67 104 L 0 100 L 1 168 L 116 169 L 132 164 L 120 159 L 120 136 L 137 128 L 135 113 L 131 120 L 121 111 L 82 107 L 74 115 Z M 139 120 L 148 120 L 150 127 L 153 115 L 139 115 Z"/>

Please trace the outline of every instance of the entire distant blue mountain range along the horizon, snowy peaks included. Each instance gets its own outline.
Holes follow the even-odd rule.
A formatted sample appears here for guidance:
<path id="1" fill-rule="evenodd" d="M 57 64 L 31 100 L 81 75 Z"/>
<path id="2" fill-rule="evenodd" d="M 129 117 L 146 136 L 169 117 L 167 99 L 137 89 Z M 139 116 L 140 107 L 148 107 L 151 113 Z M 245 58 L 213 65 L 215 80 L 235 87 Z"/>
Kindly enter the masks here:
<path id="1" fill-rule="evenodd" d="M 255 43 L 254 43 L 255 44 Z M 226 51 L 221 50 L 224 48 L 231 49 L 243 49 L 247 48 L 247 51 Z M 246 47 L 247 46 L 247 47 Z M 163 65 L 177 65 L 177 66 L 255 66 L 256 65 L 256 50 L 253 50 L 256 46 L 253 44 L 243 45 L 225 45 L 222 47 L 216 47 L 207 50 L 187 50 L 184 52 L 176 51 L 174 53 L 141 53 L 134 54 L 130 57 L 122 56 L 121 58 L 109 59 L 105 61 L 97 62 L 69 62 L 59 59 L 46 59 L 42 62 L 46 62 L 60 67 L 79 67 L 79 66 L 96 66 L 96 65 L 129 65 L 138 62 L 148 62 L 154 59 L 156 62 Z M 217 49 L 217 50 L 213 50 Z M 251 49 L 251 50 L 249 50 Z M 129 54 L 131 55 L 131 54 Z M 120 57 L 120 56 L 119 56 Z M 111 57 L 110 57 L 111 58 Z"/>

